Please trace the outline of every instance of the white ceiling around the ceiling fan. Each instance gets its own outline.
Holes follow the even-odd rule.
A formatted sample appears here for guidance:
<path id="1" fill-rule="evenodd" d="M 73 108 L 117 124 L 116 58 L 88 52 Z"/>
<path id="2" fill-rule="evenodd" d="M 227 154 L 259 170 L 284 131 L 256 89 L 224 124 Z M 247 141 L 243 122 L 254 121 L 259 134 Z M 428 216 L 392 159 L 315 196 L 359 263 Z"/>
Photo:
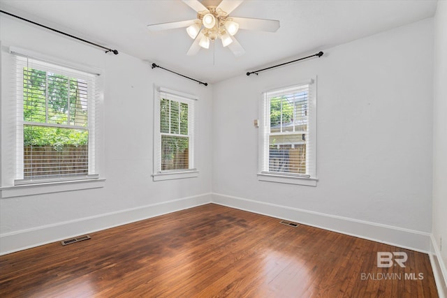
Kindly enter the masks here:
<path id="1" fill-rule="evenodd" d="M 186 56 L 193 40 L 185 29 L 146 29 L 147 24 L 195 19 L 196 12 L 180 0 L 0 0 L 0 6 L 54 29 L 212 83 L 432 17 L 437 1 L 246 0 L 230 15 L 279 20 L 281 27 L 275 33 L 240 30 L 235 37 L 246 51 L 242 57 L 235 57 L 220 41 L 214 49 L 211 45 L 209 50 Z"/>

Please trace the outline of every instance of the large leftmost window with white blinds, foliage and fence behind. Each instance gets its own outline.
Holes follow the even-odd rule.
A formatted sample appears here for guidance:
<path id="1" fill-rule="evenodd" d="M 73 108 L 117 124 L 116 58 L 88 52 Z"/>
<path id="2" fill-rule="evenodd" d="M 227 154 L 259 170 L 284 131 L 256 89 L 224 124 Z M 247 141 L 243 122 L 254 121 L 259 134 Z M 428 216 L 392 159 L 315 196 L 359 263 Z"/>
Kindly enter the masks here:
<path id="1" fill-rule="evenodd" d="M 15 184 L 96 176 L 98 75 L 15 56 Z"/>

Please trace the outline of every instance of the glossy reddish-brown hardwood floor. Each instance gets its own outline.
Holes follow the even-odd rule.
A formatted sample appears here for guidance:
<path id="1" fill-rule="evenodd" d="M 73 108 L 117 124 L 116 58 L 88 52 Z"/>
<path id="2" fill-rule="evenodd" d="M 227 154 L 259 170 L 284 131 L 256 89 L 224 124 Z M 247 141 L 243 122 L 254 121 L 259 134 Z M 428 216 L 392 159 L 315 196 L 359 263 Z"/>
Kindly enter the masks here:
<path id="1" fill-rule="evenodd" d="M 0 297 L 437 297 L 424 253 L 217 204 L 89 235 L 1 256 Z"/>

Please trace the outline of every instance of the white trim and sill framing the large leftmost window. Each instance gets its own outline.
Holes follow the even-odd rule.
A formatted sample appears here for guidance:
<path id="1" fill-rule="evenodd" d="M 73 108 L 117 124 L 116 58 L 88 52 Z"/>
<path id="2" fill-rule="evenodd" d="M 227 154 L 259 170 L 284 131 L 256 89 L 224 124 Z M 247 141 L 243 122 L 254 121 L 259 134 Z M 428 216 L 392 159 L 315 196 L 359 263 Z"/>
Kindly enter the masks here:
<path id="1" fill-rule="evenodd" d="M 5 66 L 2 70 L 3 79 L 1 84 L 7 86 L 2 92 L 3 100 L 1 100 L 2 114 L 16 114 L 17 113 L 17 94 L 15 94 L 15 86 L 17 85 L 16 73 L 17 66 L 15 64 L 15 57 L 29 57 L 29 59 L 34 59 L 37 61 L 42 61 L 45 64 L 52 64 L 53 66 L 62 66 L 64 68 L 71 68 L 75 71 L 80 71 L 82 73 L 88 73 L 89 75 L 98 76 L 96 82 L 96 91 L 98 92 L 97 103 L 94 107 L 96 110 L 96 118 L 101 118 L 101 113 L 103 109 L 103 78 L 101 77 L 101 69 L 87 66 L 85 64 L 80 64 L 77 61 L 68 61 L 59 57 L 48 56 L 40 52 L 34 52 L 32 50 L 26 50 L 20 47 L 14 47 L 12 45 L 6 45 L 4 47 L 6 50 L 1 50 L 0 59 L 5 62 Z M 3 72 L 4 71 L 4 72 Z M 6 81 L 6 78 L 12 78 L 12 84 Z M 6 105 L 6 98 L 13 98 L 14 105 Z M 3 118 L 3 117 L 2 117 Z M 6 144 L 13 144 L 15 149 L 9 150 L 7 154 L 3 151 L 1 156 L 2 163 L 5 161 L 13 161 L 12 163 L 8 161 L 8 169 L 3 168 L 1 170 L 1 182 L 0 182 L 0 198 L 13 198 L 18 196 L 27 195 L 39 195 L 45 193 L 59 193 L 65 191 L 77 191 L 82 189 L 90 188 L 102 188 L 105 186 L 105 177 L 103 176 L 103 152 L 102 152 L 102 142 L 103 134 L 103 124 L 101 121 L 96 121 L 95 131 L 91 133 L 91 137 L 94 137 L 94 142 L 96 145 L 94 147 L 95 151 L 95 161 L 94 168 L 96 169 L 93 173 L 87 175 L 64 177 L 56 179 L 17 179 L 17 117 L 6 117 L 2 121 L 2 126 L 7 131 L 11 131 L 14 137 L 6 137 L 6 135 L 1 135 L 2 150 L 6 149 Z M 3 120 L 3 119 L 2 119 Z M 24 123 L 24 121 L 22 121 Z M 89 134 L 90 135 L 90 134 Z M 90 136 L 89 136 L 90 138 Z M 13 142 L 13 143 L 12 143 Z M 6 160 L 4 159 L 6 158 Z M 90 163 L 90 161 L 89 161 Z"/>

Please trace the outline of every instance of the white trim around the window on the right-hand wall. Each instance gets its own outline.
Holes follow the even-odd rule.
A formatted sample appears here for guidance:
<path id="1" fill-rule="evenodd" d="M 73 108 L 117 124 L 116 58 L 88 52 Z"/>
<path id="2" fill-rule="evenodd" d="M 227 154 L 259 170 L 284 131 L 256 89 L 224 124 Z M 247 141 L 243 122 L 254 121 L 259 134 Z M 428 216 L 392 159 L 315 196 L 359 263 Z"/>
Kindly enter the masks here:
<path id="1" fill-rule="evenodd" d="M 268 154 L 268 140 L 265 140 L 267 133 L 265 132 L 270 126 L 265 124 L 267 117 L 267 105 L 266 100 L 267 94 L 279 92 L 279 91 L 288 91 L 288 89 L 296 89 L 302 85 L 309 84 L 309 98 L 308 98 L 308 106 L 309 108 L 309 135 L 312 135 L 314 140 L 312 143 L 309 143 L 312 154 L 311 164 L 312 169 L 309 171 L 309 174 L 288 174 L 288 173 L 279 173 L 279 172 L 267 172 L 265 171 L 265 154 Z M 297 82 L 297 84 L 293 84 L 293 86 L 280 87 L 275 89 L 270 89 L 268 91 L 263 91 L 262 98 L 260 100 L 260 121 L 259 121 L 259 137 L 258 137 L 258 181 L 269 181 L 276 182 L 282 184 L 296 184 L 303 186 L 316 186 L 317 184 L 317 176 L 316 176 L 316 76 L 310 77 L 309 80 L 302 80 Z M 267 158 L 268 162 L 268 158 Z"/>

